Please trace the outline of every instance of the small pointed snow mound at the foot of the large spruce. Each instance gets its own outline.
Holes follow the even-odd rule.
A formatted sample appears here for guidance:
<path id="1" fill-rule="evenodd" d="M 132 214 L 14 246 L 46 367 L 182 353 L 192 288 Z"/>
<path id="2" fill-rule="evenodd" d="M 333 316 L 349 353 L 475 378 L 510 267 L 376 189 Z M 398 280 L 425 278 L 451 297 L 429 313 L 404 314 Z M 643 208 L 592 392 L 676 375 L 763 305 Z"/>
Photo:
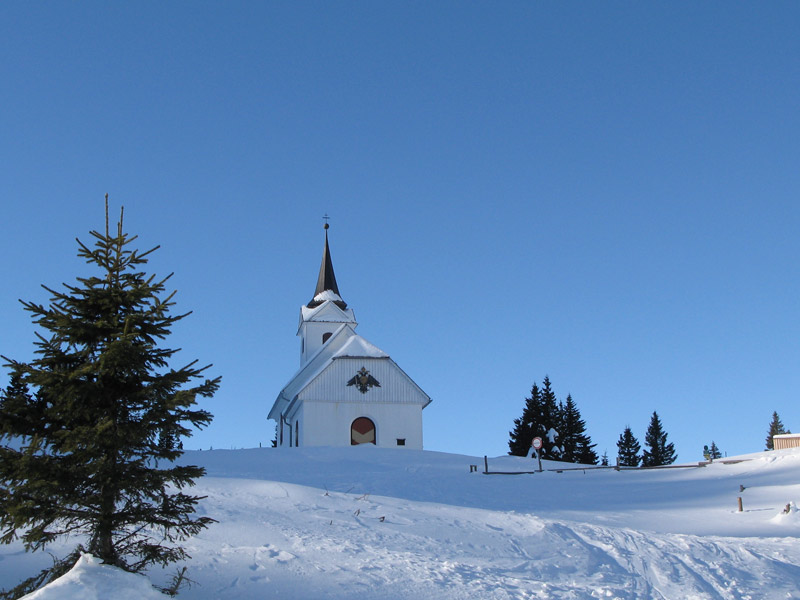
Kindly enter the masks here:
<path id="1" fill-rule="evenodd" d="M 141 575 L 104 565 L 84 554 L 75 566 L 55 581 L 23 596 L 22 600 L 164 600 Z"/>

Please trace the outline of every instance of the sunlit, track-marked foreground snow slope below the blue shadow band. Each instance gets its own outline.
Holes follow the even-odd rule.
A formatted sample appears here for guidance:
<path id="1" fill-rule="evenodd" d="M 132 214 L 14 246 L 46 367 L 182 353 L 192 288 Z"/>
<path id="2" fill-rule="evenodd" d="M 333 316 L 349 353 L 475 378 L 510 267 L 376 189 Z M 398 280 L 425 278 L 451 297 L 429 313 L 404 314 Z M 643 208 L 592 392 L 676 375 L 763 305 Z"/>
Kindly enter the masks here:
<path id="1" fill-rule="evenodd" d="M 211 485 L 209 485 L 211 484 Z M 795 539 L 653 534 L 532 514 L 419 503 L 291 484 L 252 482 L 247 510 L 226 509 L 224 480 L 209 480 L 209 514 L 234 538 L 223 545 L 218 598 L 793 598 Z M 241 503 L 243 498 L 239 497 Z M 258 523 L 247 522 L 255 507 Z M 384 520 L 381 521 L 380 518 Z M 199 538 L 210 544 L 225 537 Z M 257 540 L 272 540 L 258 544 Z M 275 540 L 279 540 L 277 543 Z M 199 555 L 210 548 L 198 544 Z M 191 551 L 190 551 L 191 552 Z M 210 582 L 209 582 L 210 583 Z M 209 583 L 204 584 L 209 585 Z M 187 598 L 205 598 L 208 590 Z"/>

